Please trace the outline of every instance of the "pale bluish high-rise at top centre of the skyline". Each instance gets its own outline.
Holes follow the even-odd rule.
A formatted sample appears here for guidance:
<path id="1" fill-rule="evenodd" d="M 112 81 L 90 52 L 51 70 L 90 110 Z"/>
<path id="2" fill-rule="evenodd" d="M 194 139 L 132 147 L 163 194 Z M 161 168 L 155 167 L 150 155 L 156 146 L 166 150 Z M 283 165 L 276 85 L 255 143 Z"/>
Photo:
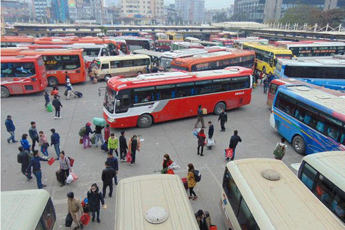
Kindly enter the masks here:
<path id="1" fill-rule="evenodd" d="M 175 0 L 177 15 L 188 22 L 204 22 L 205 0 Z"/>

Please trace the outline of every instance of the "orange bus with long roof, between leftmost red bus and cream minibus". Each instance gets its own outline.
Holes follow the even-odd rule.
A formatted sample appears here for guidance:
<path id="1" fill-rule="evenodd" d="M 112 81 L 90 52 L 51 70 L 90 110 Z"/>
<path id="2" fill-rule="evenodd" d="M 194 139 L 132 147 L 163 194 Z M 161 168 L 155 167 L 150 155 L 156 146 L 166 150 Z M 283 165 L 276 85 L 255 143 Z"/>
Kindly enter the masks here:
<path id="1" fill-rule="evenodd" d="M 83 49 L 37 49 L 37 50 L 16 50 L 2 48 L 1 56 L 16 55 L 42 55 L 46 66 L 48 84 L 65 84 L 66 73 L 70 82 L 78 83 L 86 81 L 86 68 L 83 60 Z"/>

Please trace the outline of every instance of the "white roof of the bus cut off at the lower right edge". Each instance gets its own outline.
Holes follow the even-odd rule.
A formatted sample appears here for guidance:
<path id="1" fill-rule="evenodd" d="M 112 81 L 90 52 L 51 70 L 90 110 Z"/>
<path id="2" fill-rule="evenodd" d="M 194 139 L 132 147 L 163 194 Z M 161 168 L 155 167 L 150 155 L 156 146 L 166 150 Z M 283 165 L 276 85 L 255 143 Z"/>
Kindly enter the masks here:
<path id="1" fill-rule="evenodd" d="M 345 191 L 345 151 L 313 153 L 303 160 Z"/>

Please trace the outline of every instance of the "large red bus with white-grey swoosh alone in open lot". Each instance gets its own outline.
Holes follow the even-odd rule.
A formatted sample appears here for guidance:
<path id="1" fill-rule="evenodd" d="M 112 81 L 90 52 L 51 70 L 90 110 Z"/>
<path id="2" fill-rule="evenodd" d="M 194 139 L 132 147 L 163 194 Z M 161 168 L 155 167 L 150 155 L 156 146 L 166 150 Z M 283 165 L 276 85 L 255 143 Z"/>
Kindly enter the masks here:
<path id="1" fill-rule="evenodd" d="M 195 73 L 151 73 L 107 82 L 103 117 L 112 128 L 197 115 L 198 105 L 219 115 L 250 103 L 253 70 L 239 66 Z M 188 106 L 186 106 L 188 105 Z"/>

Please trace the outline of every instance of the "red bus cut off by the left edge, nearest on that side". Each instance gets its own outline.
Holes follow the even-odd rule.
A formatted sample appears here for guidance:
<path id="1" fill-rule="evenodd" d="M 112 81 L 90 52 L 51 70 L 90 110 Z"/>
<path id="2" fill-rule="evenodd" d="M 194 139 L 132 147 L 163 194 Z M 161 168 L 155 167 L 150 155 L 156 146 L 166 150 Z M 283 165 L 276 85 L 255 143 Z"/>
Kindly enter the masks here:
<path id="1" fill-rule="evenodd" d="M 1 98 L 41 92 L 47 85 L 41 55 L 1 57 Z"/>

